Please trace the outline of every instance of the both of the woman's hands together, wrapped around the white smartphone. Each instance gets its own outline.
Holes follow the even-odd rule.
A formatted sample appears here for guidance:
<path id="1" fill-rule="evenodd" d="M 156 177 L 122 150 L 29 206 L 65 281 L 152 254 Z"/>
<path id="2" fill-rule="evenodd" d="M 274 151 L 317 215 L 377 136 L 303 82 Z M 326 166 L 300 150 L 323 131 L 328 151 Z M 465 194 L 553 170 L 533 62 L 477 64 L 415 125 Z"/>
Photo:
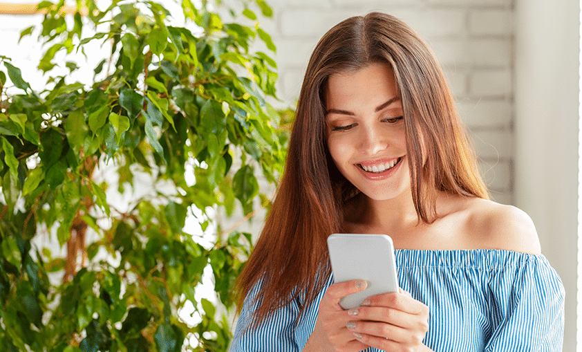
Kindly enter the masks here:
<path id="1" fill-rule="evenodd" d="M 404 290 L 369 297 L 349 311 L 339 306 L 341 297 L 365 288 L 366 281 L 358 280 L 328 288 L 304 352 L 356 352 L 369 346 L 391 352 L 430 351 L 422 344 L 429 329 L 429 308 Z"/>

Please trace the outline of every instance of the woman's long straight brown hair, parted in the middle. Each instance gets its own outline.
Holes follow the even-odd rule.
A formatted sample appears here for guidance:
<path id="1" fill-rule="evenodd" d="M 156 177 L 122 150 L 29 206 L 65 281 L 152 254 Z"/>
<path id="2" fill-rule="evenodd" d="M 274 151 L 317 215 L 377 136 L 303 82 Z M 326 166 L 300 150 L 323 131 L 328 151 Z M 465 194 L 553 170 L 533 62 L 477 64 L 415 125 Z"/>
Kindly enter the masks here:
<path id="1" fill-rule="evenodd" d="M 420 35 L 379 12 L 342 21 L 323 35 L 311 55 L 279 191 L 236 283 L 240 310 L 261 281 L 255 324 L 298 297 L 303 310 L 323 288 L 321 278 L 330 275 L 326 239 L 341 232 L 344 200 L 353 185 L 339 173 L 326 146 L 324 92 L 330 75 L 377 62 L 391 65 L 400 91 L 419 220 L 435 220 L 435 189 L 488 198 L 453 96 Z"/>

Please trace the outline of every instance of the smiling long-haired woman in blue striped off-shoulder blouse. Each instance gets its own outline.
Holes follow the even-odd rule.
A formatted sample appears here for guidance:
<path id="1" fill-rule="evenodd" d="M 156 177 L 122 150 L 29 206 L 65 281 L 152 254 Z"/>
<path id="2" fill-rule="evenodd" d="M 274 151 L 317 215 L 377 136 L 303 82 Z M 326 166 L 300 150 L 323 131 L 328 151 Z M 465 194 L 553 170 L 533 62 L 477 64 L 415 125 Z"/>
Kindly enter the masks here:
<path id="1" fill-rule="evenodd" d="M 388 234 L 399 293 L 343 311 L 327 237 Z M 430 48 L 353 17 L 317 44 L 287 166 L 238 279 L 232 351 L 561 351 L 563 286 L 515 207 L 489 201 Z"/>

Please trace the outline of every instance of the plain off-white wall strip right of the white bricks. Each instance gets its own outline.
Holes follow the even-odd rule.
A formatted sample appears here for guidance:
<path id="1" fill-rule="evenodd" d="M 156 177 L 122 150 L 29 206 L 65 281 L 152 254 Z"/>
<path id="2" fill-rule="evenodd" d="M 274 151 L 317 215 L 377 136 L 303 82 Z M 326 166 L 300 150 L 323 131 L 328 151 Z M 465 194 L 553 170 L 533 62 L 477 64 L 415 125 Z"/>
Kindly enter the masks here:
<path id="1" fill-rule="evenodd" d="M 566 290 L 576 351 L 579 1 L 516 1 L 515 203 L 532 216 Z"/>

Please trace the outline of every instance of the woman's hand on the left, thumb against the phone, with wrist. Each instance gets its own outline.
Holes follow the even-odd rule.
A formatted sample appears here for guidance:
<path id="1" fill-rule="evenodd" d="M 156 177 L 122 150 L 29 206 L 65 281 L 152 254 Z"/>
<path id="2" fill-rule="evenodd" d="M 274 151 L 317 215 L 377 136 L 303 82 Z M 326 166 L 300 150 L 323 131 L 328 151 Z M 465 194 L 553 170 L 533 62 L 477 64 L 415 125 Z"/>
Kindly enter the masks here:
<path id="1" fill-rule="evenodd" d="M 369 346 L 359 342 L 353 331 L 347 327 L 353 321 L 350 311 L 339 306 L 341 297 L 366 289 L 366 281 L 353 280 L 339 282 L 328 287 L 319 302 L 319 313 L 315 328 L 311 333 L 303 352 L 357 352 Z"/>

